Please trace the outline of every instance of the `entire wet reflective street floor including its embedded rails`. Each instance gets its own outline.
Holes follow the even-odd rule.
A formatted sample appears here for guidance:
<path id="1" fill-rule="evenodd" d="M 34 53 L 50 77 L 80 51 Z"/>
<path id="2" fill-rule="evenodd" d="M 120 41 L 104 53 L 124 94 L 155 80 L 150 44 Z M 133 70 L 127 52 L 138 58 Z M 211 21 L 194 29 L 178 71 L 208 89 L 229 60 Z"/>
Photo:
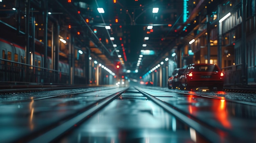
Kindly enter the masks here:
<path id="1" fill-rule="evenodd" d="M 149 143 L 169 142 L 172 139 L 191 143 L 256 141 L 250 136 L 255 134 L 251 129 L 256 129 L 256 126 L 250 125 L 256 118 L 255 104 L 197 94 L 130 87 L 39 96 L 33 100 L 2 101 L 0 108 L 29 106 L 30 109 L 25 111 L 24 108 L 20 116 L 24 118 L 30 115 L 29 120 L 34 128 L 31 129 L 31 123 L 22 128 L 13 125 L 12 128 L 26 132 L 19 136 L 13 133 L 11 140 L 1 140 L 20 143 Z M 32 104 L 35 106 L 32 107 Z M 32 114 L 31 108 L 38 111 Z M 240 111 L 247 112 L 248 117 L 241 119 L 243 115 L 238 114 Z M 4 116 L 3 111 L 0 114 Z M 52 118 L 45 121 L 48 119 L 45 116 Z M 8 128 L 8 125 L 4 127 Z"/>

